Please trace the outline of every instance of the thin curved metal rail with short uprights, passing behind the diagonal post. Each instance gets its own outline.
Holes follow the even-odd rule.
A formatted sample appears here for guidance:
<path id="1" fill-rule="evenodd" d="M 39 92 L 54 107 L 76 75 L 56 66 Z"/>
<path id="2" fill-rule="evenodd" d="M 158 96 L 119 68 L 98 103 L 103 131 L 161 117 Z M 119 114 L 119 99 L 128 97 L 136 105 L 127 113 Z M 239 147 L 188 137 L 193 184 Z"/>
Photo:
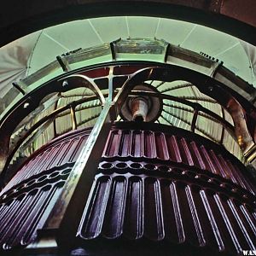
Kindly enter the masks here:
<path id="1" fill-rule="evenodd" d="M 108 96 L 108 93 L 103 94 L 103 96 Z M 224 129 L 227 130 L 230 133 L 230 135 L 236 139 L 233 125 L 230 125 L 230 123 L 228 121 L 226 121 L 225 119 L 220 117 L 218 114 L 213 113 L 211 110 L 202 107 L 201 104 L 199 104 L 199 103 L 189 102 L 188 100 L 183 99 L 181 97 L 170 96 L 170 95 L 166 95 L 166 94 L 162 94 L 162 93 L 156 93 L 156 92 L 152 92 L 152 91 L 131 90 L 131 92 L 129 93 L 129 96 L 153 96 L 153 97 L 159 97 L 159 98 L 164 99 L 164 100 L 169 100 L 169 101 L 172 101 L 172 102 L 179 102 L 183 105 L 189 106 L 190 108 L 193 108 L 193 110 L 190 110 L 189 108 L 182 108 L 182 107 L 180 107 L 180 109 L 182 109 L 184 111 L 187 111 L 189 113 L 194 113 L 192 121 L 186 123 L 186 124 L 190 125 L 190 130 L 191 131 L 195 132 L 195 129 L 196 129 L 197 131 L 201 131 L 206 137 L 210 138 L 214 142 L 221 143 L 221 142 L 218 142 L 216 140 L 216 138 L 213 138 L 209 134 L 206 134 L 205 131 L 203 131 L 200 127 L 195 125 L 197 116 L 201 115 L 201 116 L 203 116 L 207 119 L 211 119 L 212 121 L 218 122 L 219 124 L 223 125 Z M 5 173 L 7 172 L 9 163 L 13 159 L 15 153 L 19 150 L 20 146 L 26 141 L 26 139 L 29 136 L 32 135 L 32 132 L 38 130 L 39 127 L 41 125 L 44 125 L 44 123 L 45 123 L 47 125 L 41 127 L 41 129 L 38 130 L 39 133 L 42 133 L 49 126 L 49 120 L 51 120 L 51 122 L 54 122 L 55 119 L 57 119 L 59 117 L 62 117 L 62 116 L 65 116 L 67 114 L 71 114 L 71 113 L 72 113 L 72 116 L 73 116 L 73 118 L 72 118 L 73 119 L 73 127 L 71 128 L 71 130 L 72 129 L 73 130 L 77 129 L 78 126 L 84 125 L 84 123 L 90 121 L 91 119 L 96 119 L 98 115 L 95 115 L 93 117 L 85 119 L 84 121 L 79 122 L 79 124 L 77 124 L 76 119 L 74 119 L 75 118 L 75 112 L 87 109 L 87 107 L 84 107 L 84 108 L 82 107 L 82 108 L 77 108 L 77 109 L 76 109 L 76 107 L 85 103 L 85 102 L 90 102 L 90 101 L 94 101 L 94 100 L 97 100 L 97 99 L 98 99 L 98 96 L 94 95 L 94 96 L 86 96 L 86 97 L 84 97 L 82 99 L 79 99 L 77 101 L 68 102 L 67 105 L 62 106 L 61 108 L 55 109 L 52 113 L 49 113 L 48 115 L 44 116 L 44 118 L 40 119 L 36 124 L 32 125 L 32 127 L 28 131 L 26 131 L 25 136 L 20 138 L 20 140 L 15 144 L 14 149 L 10 152 L 10 154 L 8 156 L 8 159 L 6 161 L 6 165 L 4 166 L 3 173 L 2 173 L 0 178 L 3 178 L 5 176 Z M 179 108 L 177 106 L 172 106 L 172 104 L 168 104 L 168 103 L 164 103 L 164 105 L 168 106 L 168 107 L 172 107 L 172 108 Z M 102 106 L 101 103 L 98 103 L 98 104 L 96 104 L 96 106 L 89 106 L 88 108 L 94 108 L 94 107 L 100 107 L 100 106 Z M 165 112 L 168 113 L 168 114 L 173 115 L 172 113 L 170 113 L 168 111 L 165 111 Z M 199 112 L 201 112 L 201 113 L 199 113 Z M 166 117 L 164 117 L 163 115 L 160 115 L 160 117 L 162 119 L 165 119 L 166 122 L 169 125 L 173 125 L 170 122 L 170 120 L 167 120 Z M 177 116 L 175 116 L 175 117 L 177 117 Z M 179 117 L 177 117 L 177 118 L 180 119 Z M 183 121 L 183 119 L 181 119 L 181 120 Z M 70 130 L 67 129 L 67 131 L 70 131 Z M 65 133 L 67 131 L 63 131 L 63 133 Z M 58 136 L 59 135 L 61 135 L 61 134 L 58 134 Z M 32 136 L 32 138 L 37 138 L 37 137 L 38 136 Z M 33 141 L 33 139 L 29 140 L 30 143 L 32 143 L 32 141 Z M 28 141 L 26 142 L 26 148 L 27 147 L 29 147 Z"/>

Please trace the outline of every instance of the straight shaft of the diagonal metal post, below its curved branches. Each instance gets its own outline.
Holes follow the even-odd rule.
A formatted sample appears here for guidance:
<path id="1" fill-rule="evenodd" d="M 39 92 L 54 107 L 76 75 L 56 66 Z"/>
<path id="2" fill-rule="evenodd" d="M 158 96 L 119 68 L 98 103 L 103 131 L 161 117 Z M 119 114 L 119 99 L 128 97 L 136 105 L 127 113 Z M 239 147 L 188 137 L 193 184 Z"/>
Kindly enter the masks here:
<path id="1" fill-rule="evenodd" d="M 112 102 L 106 102 L 67 178 L 55 207 L 50 212 L 43 229 L 38 232 L 38 241 L 28 246 L 27 249 L 42 249 L 45 244 L 56 247 L 57 232 L 61 232 L 59 238 L 62 241 L 58 241 L 60 245 L 68 246 L 71 243 L 71 238 L 75 238 L 79 220 L 89 197 L 90 188 L 111 129 L 112 110 Z"/>

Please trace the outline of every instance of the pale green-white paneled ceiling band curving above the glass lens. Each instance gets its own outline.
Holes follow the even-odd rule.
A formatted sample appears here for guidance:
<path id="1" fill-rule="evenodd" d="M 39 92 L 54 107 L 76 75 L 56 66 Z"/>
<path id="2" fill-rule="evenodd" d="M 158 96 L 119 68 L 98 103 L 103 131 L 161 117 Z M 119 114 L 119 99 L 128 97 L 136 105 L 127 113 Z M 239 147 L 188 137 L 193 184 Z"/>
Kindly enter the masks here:
<path id="1" fill-rule="evenodd" d="M 180 20 L 155 17 L 105 17 L 51 26 L 0 49 L 0 97 L 11 82 L 55 61 L 67 51 L 118 38 L 158 38 L 224 61 L 236 75 L 256 86 L 256 49 L 224 32 Z"/>

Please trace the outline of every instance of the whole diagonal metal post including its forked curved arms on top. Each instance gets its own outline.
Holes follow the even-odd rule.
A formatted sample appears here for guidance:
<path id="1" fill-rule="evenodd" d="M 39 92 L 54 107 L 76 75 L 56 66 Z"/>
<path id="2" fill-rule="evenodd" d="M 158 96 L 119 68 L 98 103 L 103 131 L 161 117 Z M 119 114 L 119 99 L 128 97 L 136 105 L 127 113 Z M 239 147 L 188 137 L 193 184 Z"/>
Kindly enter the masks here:
<path id="1" fill-rule="evenodd" d="M 113 99 L 113 83 L 108 83 L 109 97 L 107 102 L 96 87 L 96 94 L 101 96 L 104 107 L 96 121 L 87 142 L 73 166 L 67 182 L 65 183 L 58 201 L 50 212 L 42 230 L 38 232 L 38 240 L 26 247 L 33 253 L 50 253 L 58 248 L 73 247 L 80 218 L 90 195 L 91 185 L 96 175 L 96 170 L 102 158 L 109 131 L 113 120 L 119 112 L 119 106 L 137 82 L 148 79 L 153 73 L 153 68 L 143 69 L 129 77 L 118 95 Z M 81 76 L 80 76 L 81 77 Z M 84 77 L 83 77 L 84 78 Z M 49 248 L 51 247 L 51 249 Z"/>

